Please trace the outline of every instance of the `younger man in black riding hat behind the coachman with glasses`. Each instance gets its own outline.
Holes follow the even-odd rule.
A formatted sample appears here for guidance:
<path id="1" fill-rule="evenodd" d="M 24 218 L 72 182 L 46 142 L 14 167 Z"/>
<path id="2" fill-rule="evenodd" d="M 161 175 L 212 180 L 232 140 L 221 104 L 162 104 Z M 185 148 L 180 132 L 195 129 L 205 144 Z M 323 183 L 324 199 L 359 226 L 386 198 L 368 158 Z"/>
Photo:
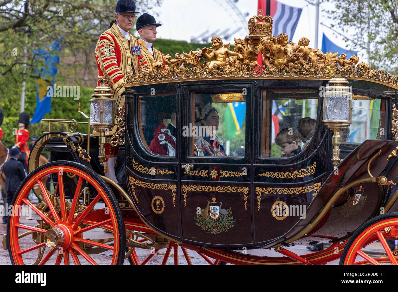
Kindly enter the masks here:
<path id="1" fill-rule="evenodd" d="M 140 62 L 141 70 L 152 70 L 155 63 L 164 63 L 164 55 L 153 46 L 153 42 L 156 40 L 156 34 L 158 33 L 156 28 L 160 26 L 160 23 L 156 23 L 155 17 L 148 13 L 142 14 L 137 19 L 136 29 L 140 34 L 140 39 L 138 41 L 144 58 L 143 62 Z"/>

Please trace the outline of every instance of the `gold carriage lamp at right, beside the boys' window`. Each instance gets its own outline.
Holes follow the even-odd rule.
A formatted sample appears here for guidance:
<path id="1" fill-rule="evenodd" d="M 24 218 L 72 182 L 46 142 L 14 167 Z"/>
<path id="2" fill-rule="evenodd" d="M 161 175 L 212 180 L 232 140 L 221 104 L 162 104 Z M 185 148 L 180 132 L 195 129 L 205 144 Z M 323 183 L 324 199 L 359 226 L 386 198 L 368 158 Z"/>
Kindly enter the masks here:
<path id="1" fill-rule="evenodd" d="M 336 168 L 340 160 L 340 132 L 352 123 L 352 89 L 345 78 L 334 77 L 326 85 L 324 92 L 323 122 L 333 131 L 333 166 Z"/>

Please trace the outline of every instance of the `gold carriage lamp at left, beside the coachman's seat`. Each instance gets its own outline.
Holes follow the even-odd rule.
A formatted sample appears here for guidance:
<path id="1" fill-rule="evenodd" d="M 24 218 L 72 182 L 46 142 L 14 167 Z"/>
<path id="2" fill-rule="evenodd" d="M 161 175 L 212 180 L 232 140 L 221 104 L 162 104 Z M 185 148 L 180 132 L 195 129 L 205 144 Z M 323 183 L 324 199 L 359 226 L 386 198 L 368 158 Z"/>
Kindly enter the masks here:
<path id="1" fill-rule="evenodd" d="M 90 124 L 100 136 L 98 139 L 100 144 L 98 159 L 100 159 L 101 166 L 103 166 L 105 144 L 107 143 L 105 134 L 115 126 L 116 108 L 111 88 L 105 80 L 100 80 L 100 85 L 94 89 L 94 92 L 92 95 L 93 99 L 90 100 Z"/>

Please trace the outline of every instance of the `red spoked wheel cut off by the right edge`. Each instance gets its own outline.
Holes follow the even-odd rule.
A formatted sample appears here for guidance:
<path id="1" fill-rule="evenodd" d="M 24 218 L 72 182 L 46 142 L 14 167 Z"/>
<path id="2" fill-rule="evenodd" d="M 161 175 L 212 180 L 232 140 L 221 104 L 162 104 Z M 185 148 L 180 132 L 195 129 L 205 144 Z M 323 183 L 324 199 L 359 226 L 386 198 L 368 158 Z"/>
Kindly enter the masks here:
<path id="1" fill-rule="evenodd" d="M 398 212 L 373 218 L 351 236 L 340 265 L 398 265 L 397 239 Z"/>

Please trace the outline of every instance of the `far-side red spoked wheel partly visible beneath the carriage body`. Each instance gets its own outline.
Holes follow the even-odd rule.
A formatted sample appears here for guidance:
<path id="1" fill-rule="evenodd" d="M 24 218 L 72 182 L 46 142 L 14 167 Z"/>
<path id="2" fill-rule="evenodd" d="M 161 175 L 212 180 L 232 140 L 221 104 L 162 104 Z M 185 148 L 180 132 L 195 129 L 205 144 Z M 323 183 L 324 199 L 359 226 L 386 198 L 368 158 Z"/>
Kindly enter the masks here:
<path id="1" fill-rule="evenodd" d="M 127 233 L 129 232 L 127 231 Z M 136 244 L 138 244 L 137 242 L 147 244 L 147 247 L 132 248 L 128 246 L 129 241 L 127 241 L 127 253 L 129 254 L 128 259 L 131 265 L 193 265 L 195 263 L 202 264 L 205 262 L 210 265 L 226 264 L 218 259 L 212 259 L 203 253 L 193 251 L 189 246 L 179 245 L 161 236 L 155 237 L 152 234 L 139 234 L 137 232 L 134 232 L 134 234 L 130 233 L 130 236 Z M 132 240 L 130 240 L 130 242 L 132 242 Z M 200 260 L 199 257 L 202 260 Z"/>

